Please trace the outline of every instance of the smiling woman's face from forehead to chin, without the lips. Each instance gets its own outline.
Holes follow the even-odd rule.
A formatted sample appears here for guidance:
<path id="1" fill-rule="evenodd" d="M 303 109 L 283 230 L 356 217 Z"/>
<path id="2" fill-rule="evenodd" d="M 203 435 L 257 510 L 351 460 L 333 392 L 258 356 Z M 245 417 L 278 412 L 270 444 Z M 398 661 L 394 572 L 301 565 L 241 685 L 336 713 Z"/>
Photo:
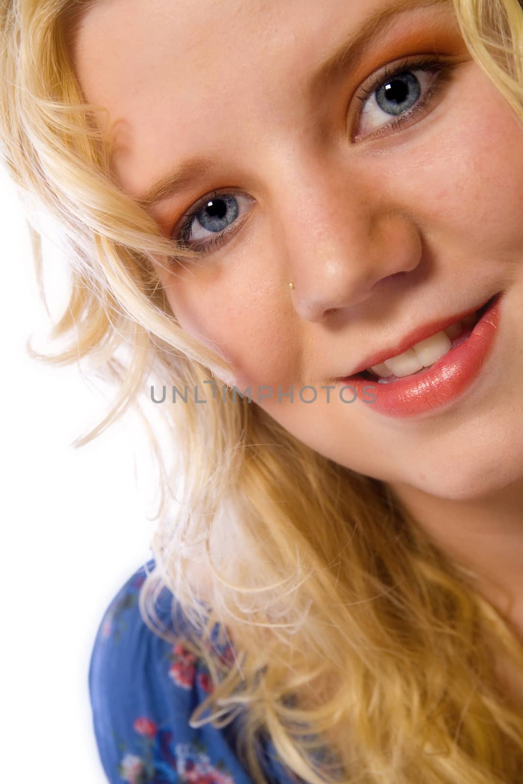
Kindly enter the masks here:
<path id="1" fill-rule="evenodd" d="M 74 60 L 111 112 L 127 194 L 185 167 L 150 212 L 207 245 L 158 274 L 252 405 L 337 463 L 441 498 L 521 477 L 523 129 L 449 3 L 104 0 Z M 370 355 L 496 292 L 496 340 L 462 394 L 412 416 L 343 402 L 337 379 Z"/>

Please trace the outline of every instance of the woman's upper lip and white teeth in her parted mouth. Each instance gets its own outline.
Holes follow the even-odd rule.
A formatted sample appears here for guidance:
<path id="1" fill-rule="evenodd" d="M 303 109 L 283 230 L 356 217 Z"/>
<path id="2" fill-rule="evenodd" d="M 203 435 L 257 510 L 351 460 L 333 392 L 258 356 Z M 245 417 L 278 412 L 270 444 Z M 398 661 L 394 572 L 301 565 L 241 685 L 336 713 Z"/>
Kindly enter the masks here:
<path id="1" fill-rule="evenodd" d="M 362 379 L 374 383 L 389 384 L 408 376 L 417 376 L 427 372 L 434 362 L 470 337 L 478 321 L 492 306 L 499 294 L 500 292 L 488 299 L 478 310 L 458 315 L 452 322 L 447 319 L 446 326 L 433 325 L 433 328 L 430 328 L 428 325 L 419 330 L 418 334 L 421 337 L 418 336 L 417 341 L 416 339 L 411 340 L 410 345 L 402 351 L 398 350 L 397 354 L 389 353 L 387 359 L 383 358 L 383 352 L 381 355 L 374 354 L 373 358 L 366 361 L 365 369 L 353 373 L 351 376 L 345 376 L 343 380 Z M 442 324 L 445 324 L 445 321 Z M 416 347 L 418 348 L 417 352 Z"/>

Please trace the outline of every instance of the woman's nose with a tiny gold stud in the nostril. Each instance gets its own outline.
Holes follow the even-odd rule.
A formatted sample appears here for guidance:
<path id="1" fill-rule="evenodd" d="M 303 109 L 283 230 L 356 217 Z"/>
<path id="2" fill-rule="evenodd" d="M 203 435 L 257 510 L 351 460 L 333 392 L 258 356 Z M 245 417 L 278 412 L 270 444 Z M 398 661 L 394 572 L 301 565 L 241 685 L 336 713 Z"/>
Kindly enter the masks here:
<path id="1" fill-rule="evenodd" d="M 387 202 L 376 181 L 355 185 L 347 172 L 340 174 L 318 172 L 308 177 L 307 188 L 296 188 L 295 180 L 291 206 L 281 205 L 285 282 L 294 283 L 292 304 L 305 321 L 324 321 L 361 303 L 385 278 L 415 269 L 421 256 L 408 212 Z"/>

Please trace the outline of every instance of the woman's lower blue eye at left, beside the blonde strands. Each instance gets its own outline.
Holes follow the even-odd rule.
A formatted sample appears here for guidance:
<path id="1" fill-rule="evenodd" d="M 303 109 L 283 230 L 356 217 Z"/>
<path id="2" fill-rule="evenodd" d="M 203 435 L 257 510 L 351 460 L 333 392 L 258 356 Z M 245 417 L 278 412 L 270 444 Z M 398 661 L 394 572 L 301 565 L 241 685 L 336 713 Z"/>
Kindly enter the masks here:
<path id="1" fill-rule="evenodd" d="M 203 254 L 209 252 L 211 246 L 221 245 L 232 230 L 236 230 L 235 224 L 239 227 L 242 223 L 238 216 L 242 214 L 245 202 L 251 201 L 253 199 L 245 194 L 234 196 L 217 191 L 202 198 L 186 214 L 186 220 L 177 232 L 183 248 Z"/>

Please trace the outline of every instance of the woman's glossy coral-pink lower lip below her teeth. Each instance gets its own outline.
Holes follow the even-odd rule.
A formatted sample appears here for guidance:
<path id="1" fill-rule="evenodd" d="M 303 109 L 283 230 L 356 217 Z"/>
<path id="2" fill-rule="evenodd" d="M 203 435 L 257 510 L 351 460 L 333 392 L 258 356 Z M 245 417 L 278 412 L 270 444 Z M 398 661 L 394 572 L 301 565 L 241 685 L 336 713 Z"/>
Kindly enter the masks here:
<path id="1" fill-rule="evenodd" d="M 501 314 L 501 295 L 492 300 L 470 336 L 434 362 L 426 372 L 388 384 L 354 376 L 341 379 L 358 393 L 372 395 L 372 408 L 387 416 L 407 417 L 435 412 L 455 401 L 477 378 L 492 350 Z"/>

